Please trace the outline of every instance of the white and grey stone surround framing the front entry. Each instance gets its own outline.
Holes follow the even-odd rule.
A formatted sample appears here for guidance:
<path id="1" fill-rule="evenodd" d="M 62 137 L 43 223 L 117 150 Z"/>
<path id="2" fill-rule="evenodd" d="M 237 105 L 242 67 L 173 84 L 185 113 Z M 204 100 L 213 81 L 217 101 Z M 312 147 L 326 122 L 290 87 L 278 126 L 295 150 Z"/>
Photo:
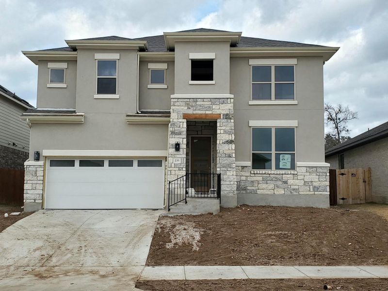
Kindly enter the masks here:
<path id="1" fill-rule="evenodd" d="M 235 207 L 236 164 L 234 148 L 233 98 L 230 95 L 217 98 L 177 98 L 171 96 L 171 123 L 169 128 L 168 171 L 171 181 L 186 174 L 187 122 L 183 113 L 221 113 L 217 120 L 217 173 L 221 174 L 221 205 Z M 180 151 L 175 151 L 175 143 Z M 174 158 L 179 162 L 174 163 Z"/>

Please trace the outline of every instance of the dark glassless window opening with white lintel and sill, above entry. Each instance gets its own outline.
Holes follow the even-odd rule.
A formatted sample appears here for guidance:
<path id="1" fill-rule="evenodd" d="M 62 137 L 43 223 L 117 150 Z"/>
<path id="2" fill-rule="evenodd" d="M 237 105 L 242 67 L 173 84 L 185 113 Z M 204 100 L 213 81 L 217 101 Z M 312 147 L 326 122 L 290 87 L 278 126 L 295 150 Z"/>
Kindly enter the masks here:
<path id="1" fill-rule="evenodd" d="M 189 84 L 215 84 L 214 52 L 191 52 L 191 78 Z"/>

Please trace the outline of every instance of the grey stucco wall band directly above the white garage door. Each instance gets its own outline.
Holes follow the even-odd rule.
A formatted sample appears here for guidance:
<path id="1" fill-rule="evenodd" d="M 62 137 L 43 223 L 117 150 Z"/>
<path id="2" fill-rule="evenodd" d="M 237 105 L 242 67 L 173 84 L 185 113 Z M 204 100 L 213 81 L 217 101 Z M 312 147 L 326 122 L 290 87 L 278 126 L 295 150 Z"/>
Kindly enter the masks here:
<path id="1" fill-rule="evenodd" d="M 43 149 L 167 150 L 167 124 L 127 124 L 124 117 L 86 113 L 83 124 L 32 124 L 30 159 Z"/>

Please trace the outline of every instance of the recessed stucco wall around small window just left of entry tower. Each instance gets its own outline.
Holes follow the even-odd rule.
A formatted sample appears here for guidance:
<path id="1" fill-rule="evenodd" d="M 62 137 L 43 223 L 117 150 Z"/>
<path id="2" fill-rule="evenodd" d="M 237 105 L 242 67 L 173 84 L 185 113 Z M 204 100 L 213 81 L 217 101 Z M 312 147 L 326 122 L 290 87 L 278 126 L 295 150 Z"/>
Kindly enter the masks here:
<path id="1" fill-rule="evenodd" d="M 148 89 L 149 69 L 148 63 L 166 63 L 167 89 Z M 140 61 L 139 63 L 139 109 L 170 110 L 171 95 L 174 94 L 174 62 Z"/>

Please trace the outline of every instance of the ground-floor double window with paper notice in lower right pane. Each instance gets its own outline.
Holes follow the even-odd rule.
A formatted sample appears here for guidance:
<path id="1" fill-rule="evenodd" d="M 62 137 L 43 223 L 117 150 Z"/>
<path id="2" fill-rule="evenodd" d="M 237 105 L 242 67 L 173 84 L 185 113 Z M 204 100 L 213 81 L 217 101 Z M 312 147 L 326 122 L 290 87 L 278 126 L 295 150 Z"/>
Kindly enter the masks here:
<path id="1" fill-rule="evenodd" d="M 294 170 L 294 128 L 252 128 L 253 170 Z"/>

